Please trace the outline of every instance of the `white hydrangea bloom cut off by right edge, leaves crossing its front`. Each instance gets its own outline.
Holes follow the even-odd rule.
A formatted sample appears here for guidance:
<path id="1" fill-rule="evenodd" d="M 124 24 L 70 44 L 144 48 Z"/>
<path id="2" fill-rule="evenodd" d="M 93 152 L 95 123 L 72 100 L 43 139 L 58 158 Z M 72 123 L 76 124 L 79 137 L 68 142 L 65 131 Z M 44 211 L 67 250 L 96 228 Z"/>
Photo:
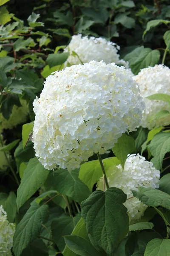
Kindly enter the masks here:
<path id="1" fill-rule="evenodd" d="M 161 119 L 153 119 L 152 116 L 161 111 L 170 111 L 170 105 L 167 102 L 149 100 L 146 97 L 155 93 L 166 93 L 170 95 L 170 69 L 162 64 L 154 67 L 142 69 L 134 79 L 140 85 L 141 96 L 144 98 L 145 110 L 143 111 L 142 126 L 153 129 L 159 126 L 170 124 L 170 117 L 166 116 Z"/>

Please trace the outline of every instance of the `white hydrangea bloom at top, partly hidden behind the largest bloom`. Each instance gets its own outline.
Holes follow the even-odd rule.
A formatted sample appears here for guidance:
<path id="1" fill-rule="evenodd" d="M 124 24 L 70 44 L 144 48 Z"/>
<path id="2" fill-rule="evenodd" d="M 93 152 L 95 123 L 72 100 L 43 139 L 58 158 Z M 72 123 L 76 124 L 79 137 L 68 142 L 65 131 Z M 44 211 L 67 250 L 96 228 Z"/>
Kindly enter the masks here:
<path id="1" fill-rule="evenodd" d="M 77 65 L 90 61 L 104 61 L 106 64 L 114 62 L 116 65 L 123 65 L 125 68 L 129 67 L 128 62 L 119 59 L 118 50 L 120 47 L 105 38 L 95 38 L 88 36 L 82 37 L 81 34 L 74 35 L 65 48 L 65 52 L 70 52 L 70 55 L 65 65 Z M 77 55 L 74 54 L 77 53 Z"/>

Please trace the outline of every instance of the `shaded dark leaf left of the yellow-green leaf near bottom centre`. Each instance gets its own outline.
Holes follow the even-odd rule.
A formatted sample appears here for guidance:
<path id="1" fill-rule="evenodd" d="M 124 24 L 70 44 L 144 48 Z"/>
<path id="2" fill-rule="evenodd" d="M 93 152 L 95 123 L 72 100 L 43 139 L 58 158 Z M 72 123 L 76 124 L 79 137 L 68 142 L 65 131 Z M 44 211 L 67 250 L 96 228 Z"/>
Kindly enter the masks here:
<path id="1" fill-rule="evenodd" d="M 75 223 L 75 218 L 71 216 L 61 216 L 51 224 L 52 237 L 59 250 L 64 250 L 65 241 L 63 236 L 71 235 L 74 227 L 77 223 Z"/>

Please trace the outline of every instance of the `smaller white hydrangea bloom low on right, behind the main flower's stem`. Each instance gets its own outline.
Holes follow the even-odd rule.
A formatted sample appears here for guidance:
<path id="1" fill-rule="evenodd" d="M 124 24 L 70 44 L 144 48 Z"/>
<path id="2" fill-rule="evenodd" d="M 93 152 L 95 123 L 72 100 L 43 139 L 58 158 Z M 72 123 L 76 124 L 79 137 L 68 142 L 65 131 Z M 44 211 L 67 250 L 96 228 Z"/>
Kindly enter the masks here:
<path id="1" fill-rule="evenodd" d="M 139 154 L 131 154 L 127 157 L 124 170 L 122 171 L 121 165 L 110 167 L 107 178 L 110 187 L 122 189 L 127 199 L 129 198 L 124 205 L 127 208 L 129 222 L 133 224 L 142 217 L 147 206 L 138 198 L 134 198 L 131 190 L 137 191 L 139 186 L 159 188 L 160 171 Z M 103 190 L 102 178 L 98 182 L 98 189 Z"/>

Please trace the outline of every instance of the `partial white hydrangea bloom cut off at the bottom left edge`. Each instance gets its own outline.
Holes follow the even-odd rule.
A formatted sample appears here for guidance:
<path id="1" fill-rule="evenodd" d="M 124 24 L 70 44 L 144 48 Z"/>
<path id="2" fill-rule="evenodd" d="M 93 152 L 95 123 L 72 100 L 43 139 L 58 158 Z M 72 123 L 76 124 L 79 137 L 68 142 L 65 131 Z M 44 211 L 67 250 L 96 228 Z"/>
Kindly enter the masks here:
<path id="1" fill-rule="evenodd" d="M 11 256 L 15 226 L 7 220 L 3 206 L 0 206 L 0 256 Z"/>

